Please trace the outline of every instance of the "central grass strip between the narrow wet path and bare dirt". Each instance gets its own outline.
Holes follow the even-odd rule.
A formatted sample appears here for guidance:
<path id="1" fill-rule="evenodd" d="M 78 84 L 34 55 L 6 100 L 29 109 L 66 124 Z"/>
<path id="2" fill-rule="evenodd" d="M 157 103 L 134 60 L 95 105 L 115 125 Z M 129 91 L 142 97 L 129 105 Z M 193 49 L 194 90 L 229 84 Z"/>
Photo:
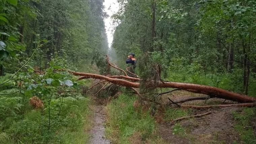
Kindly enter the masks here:
<path id="1" fill-rule="evenodd" d="M 160 140 L 150 111 L 143 113 L 141 106 L 137 110 L 133 107 L 136 99 L 135 96 L 122 94 L 107 105 L 106 136 L 114 144 L 154 143 Z"/>

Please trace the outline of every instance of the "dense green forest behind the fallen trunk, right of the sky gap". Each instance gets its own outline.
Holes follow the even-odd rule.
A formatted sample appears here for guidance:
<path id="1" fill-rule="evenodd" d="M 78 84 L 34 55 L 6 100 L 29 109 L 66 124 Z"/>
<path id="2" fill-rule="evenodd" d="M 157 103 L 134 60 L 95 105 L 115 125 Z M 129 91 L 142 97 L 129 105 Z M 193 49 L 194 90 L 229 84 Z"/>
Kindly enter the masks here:
<path id="1" fill-rule="evenodd" d="M 119 61 L 149 52 L 168 80 L 256 96 L 256 2 L 119 0 L 113 50 Z M 120 57 L 122 56 L 122 57 Z M 139 59 L 138 59 L 139 63 Z"/>

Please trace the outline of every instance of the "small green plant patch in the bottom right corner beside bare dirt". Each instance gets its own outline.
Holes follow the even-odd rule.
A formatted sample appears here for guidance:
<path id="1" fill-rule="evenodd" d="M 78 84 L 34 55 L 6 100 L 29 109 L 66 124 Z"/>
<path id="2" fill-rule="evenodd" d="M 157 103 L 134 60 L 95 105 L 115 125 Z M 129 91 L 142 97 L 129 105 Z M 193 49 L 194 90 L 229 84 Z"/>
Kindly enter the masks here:
<path id="1" fill-rule="evenodd" d="M 256 116 L 255 108 L 243 108 L 242 112 L 233 112 L 233 118 L 238 122 L 234 126 L 235 130 L 241 135 L 241 139 L 245 144 L 255 144 L 256 138 L 254 136 L 254 129 L 250 121 Z"/>

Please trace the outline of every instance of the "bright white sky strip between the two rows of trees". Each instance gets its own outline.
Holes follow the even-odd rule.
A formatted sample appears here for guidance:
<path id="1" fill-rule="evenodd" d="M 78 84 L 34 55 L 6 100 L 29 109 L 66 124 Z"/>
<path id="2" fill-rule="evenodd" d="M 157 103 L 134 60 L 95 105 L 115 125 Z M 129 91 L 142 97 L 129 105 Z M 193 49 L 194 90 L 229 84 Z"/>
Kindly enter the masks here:
<path id="1" fill-rule="evenodd" d="M 113 34 L 112 34 L 112 21 L 111 16 L 116 13 L 119 9 L 119 3 L 117 0 L 105 0 L 103 5 L 105 6 L 105 12 L 109 15 L 107 19 L 105 19 L 105 27 L 107 32 L 107 40 L 108 40 L 108 46 L 111 47 L 111 43 L 113 41 Z"/>

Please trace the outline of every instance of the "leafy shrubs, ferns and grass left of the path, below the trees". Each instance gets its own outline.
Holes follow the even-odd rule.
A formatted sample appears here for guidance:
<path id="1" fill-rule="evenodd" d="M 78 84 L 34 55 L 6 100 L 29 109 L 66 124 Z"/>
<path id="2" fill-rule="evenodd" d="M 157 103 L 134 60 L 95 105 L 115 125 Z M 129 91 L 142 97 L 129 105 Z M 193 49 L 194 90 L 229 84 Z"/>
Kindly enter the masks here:
<path id="1" fill-rule="evenodd" d="M 81 91 L 88 81 L 76 82 L 68 72 L 54 72 L 60 61 L 51 61 L 42 75 L 28 67 L 0 86 L 1 144 L 88 142 L 91 99 Z M 2 76 L 0 83 L 8 79 L 8 74 Z"/>

